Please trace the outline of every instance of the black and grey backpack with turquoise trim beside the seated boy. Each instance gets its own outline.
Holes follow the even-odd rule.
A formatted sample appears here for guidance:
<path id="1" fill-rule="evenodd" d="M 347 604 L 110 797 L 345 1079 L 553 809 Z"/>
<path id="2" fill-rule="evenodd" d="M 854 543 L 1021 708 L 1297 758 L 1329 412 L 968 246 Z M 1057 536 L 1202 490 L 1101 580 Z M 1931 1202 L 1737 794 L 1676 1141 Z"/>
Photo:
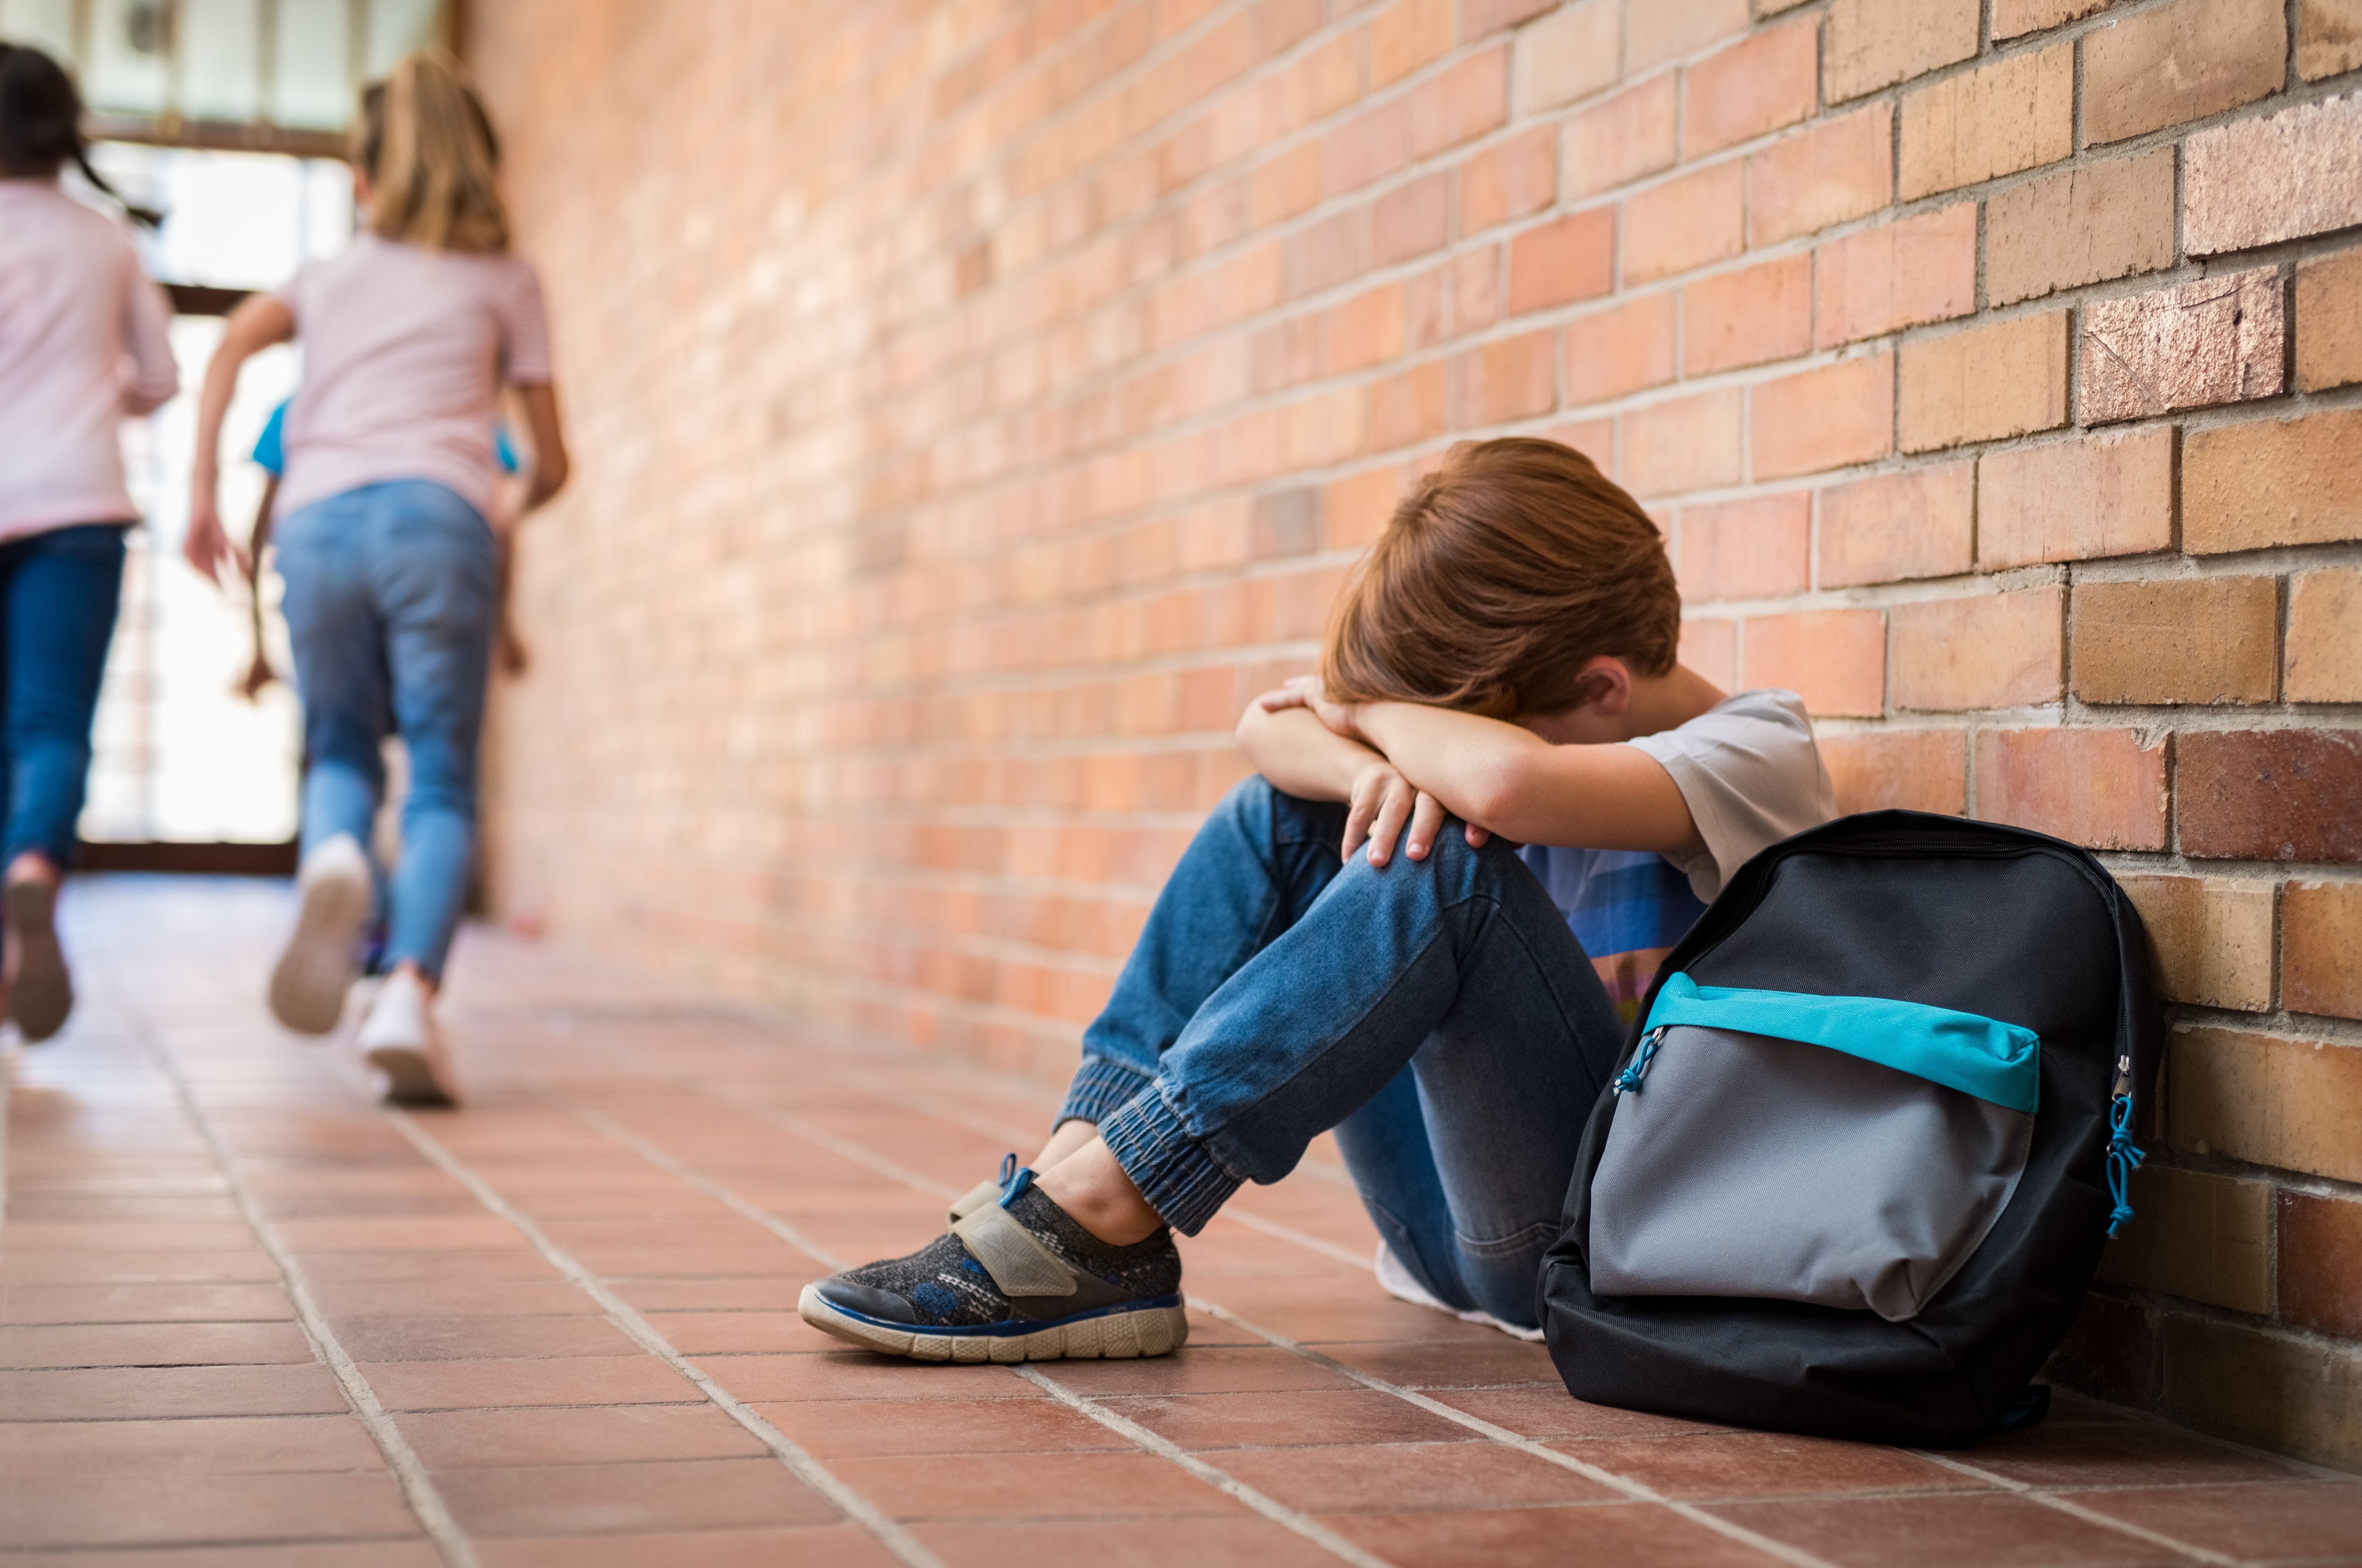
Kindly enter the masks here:
<path id="1" fill-rule="evenodd" d="M 1585 1124 L 1540 1280 L 1559 1377 L 1918 1448 L 2038 1422 L 2161 1046 L 2140 916 L 2076 845 L 1904 810 L 1772 845 Z"/>

